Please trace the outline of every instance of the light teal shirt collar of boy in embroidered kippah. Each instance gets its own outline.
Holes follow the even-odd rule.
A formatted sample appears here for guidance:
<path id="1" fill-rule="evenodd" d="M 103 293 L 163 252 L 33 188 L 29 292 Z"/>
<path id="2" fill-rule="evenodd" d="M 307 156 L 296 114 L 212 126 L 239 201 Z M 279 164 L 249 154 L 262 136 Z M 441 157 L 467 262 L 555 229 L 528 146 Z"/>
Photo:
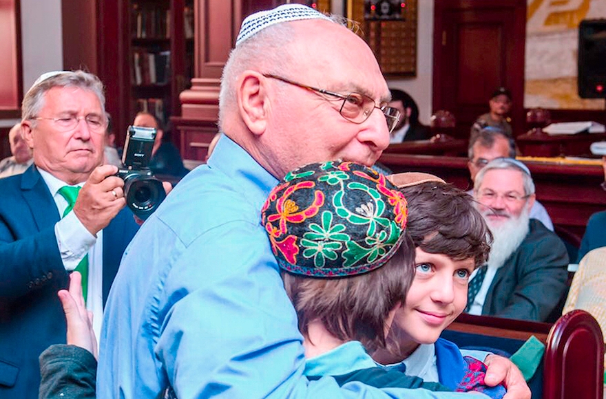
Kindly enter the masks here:
<path id="1" fill-rule="evenodd" d="M 340 376 L 352 371 L 377 367 L 359 341 L 349 341 L 320 356 L 305 360 L 306 376 Z"/>

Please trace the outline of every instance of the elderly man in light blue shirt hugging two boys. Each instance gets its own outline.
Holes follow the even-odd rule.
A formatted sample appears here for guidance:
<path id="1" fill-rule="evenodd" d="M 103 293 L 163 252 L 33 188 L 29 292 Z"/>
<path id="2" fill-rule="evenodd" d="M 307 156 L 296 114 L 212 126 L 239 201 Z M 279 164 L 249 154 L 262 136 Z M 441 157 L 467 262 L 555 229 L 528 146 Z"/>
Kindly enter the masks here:
<path id="1" fill-rule="evenodd" d="M 397 112 L 370 48 L 311 8 L 280 6 L 244 20 L 225 65 L 224 133 L 140 230 L 110 294 L 98 398 L 456 398 L 303 375 L 297 317 L 260 210 L 297 166 L 368 166 L 388 146 Z M 284 217 L 293 209 L 286 207 Z M 494 357 L 494 384 L 530 398 L 521 374 Z"/>

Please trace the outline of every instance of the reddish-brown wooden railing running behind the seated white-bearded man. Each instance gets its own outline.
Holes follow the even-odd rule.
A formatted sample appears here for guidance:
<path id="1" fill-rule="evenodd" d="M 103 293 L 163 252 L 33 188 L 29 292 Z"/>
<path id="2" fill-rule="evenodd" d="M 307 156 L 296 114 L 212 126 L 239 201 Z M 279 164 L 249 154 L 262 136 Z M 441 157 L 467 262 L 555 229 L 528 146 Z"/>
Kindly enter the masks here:
<path id="1" fill-rule="evenodd" d="M 467 158 L 384 153 L 379 162 L 394 173 L 433 173 L 463 190 L 472 188 Z M 532 173 L 536 199 L 547 209 L 556 232 L 567 235 L 569 241 L 581 242 L 589 216 L 606 209 L 606 193 L 600 187 L 604 181 L 602 167 L 532 161 L 525 164 Z"/>

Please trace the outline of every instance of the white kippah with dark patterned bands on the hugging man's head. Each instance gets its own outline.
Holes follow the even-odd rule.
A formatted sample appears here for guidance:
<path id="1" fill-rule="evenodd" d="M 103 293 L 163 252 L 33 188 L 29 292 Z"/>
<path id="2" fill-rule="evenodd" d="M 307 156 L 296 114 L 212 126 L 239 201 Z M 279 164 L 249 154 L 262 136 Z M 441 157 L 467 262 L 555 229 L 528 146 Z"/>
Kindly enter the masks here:
<path id="1" fill-rule="evenodd" d="M 331 21 L 322 12 L 314 10 L 311 7 L 303 6 L 302 4 L 284 4 L 272 10 L 255 12 L 246 17 L 242 22 L 238 39 L 236 39 L 236 47 L 268 26 L 276 23 L 298 21 L 300 19 L 325 19 L 326 21 Z"/>

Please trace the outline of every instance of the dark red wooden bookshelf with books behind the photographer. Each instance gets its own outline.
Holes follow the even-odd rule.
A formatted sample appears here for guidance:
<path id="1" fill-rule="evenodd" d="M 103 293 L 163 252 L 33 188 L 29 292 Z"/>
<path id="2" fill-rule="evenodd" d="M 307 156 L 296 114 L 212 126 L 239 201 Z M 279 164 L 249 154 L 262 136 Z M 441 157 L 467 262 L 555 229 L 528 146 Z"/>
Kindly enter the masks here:
<path id="1" fill-rule="evenodd" d="M 194 74 L 194 0 L 97 3 L 96 73 L 118 145 L 138 111 L 168 122 Z M 91 68 L 94 71 L 94 68 Z"/>

